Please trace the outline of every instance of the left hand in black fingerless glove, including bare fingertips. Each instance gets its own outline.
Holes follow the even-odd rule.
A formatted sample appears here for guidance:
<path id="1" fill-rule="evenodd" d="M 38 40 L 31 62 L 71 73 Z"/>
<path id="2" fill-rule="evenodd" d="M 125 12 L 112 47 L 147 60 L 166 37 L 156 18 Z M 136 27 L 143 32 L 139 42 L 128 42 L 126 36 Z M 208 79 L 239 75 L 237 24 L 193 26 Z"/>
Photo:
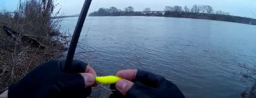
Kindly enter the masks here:
<path id="1" fill-rule="evenodd" d="M 86 98 L 96 73 L 85 62 L 74 60 L 64 70 L 65 60 L 50 61 L 33 69 L 9 87 L 8 98 Z"/>

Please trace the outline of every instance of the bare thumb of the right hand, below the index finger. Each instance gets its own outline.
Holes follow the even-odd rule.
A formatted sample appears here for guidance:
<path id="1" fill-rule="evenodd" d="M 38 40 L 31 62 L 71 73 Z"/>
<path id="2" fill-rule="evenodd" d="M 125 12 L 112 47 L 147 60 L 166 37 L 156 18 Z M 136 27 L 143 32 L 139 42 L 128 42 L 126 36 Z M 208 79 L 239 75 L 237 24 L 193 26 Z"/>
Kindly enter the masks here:
<path id="1" fill-rule="evenodd" d="M 125 95 L 126 92 L 127 92 L 130 88 L 132 88 L 133 84 L 134 84 L 134 83 L 131 82 L 131 81 L 128 81 L 128 80 L 125 80 L 125 79 L 121 79 L 121 80 L 117 81 L 117 83 L 116 83 L 116 88 L 117 88 L 117 90 L 118 90 L 120 93 L 122 93 L 123 95 Z"/>

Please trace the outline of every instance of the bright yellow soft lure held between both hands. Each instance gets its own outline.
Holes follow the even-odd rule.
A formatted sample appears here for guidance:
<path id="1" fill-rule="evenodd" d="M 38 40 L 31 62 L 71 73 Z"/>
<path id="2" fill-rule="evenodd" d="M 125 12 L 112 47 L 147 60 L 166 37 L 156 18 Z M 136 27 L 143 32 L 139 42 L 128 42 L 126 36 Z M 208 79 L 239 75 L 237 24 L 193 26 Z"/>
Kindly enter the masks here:
<path id="1" fill-rule="evenodd" d="M 117 76 L 96 77 L 96 82 L 101 84 L 113 84 L 113 83 L 117 83 L 117 81 L 120 79 L 122 78 Z"/>

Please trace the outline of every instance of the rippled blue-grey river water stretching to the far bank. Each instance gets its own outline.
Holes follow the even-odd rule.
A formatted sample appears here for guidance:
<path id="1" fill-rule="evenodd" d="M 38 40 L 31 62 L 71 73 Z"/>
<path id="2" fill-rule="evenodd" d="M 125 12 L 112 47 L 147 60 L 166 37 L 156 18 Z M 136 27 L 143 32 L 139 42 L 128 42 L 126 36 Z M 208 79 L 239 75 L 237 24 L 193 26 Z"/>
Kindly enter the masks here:
<path id="1" fill-rule="evenodd" d="M 78 17 L 62 28 L 74 31 Z M 187 98 L 240 98 L 244 67 L 256 66 L 256 26 L 150 16 L 87 17 L 76 59 L 101 74 L 143 69 L 175 83 Z M 100 74 L 100 75 L 101 75 Z"/>

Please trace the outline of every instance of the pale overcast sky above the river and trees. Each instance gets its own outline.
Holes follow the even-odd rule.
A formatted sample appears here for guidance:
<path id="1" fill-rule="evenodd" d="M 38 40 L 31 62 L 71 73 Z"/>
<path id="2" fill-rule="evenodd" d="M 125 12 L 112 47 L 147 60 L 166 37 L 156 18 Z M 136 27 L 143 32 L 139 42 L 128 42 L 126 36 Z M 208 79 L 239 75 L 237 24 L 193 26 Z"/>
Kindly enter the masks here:
<path id="1" fill-rule="evenodd" d="M 0 0 L 0 9 L 14 10 L 19 0 Z M 79 14 L 84 0 L 56 0 L 59 8 L 65 15 Z M 92 0 L 89 12 L 101 7 L 111 6 L 123 10 L 124 7 L 133 6 L 135 11 L 142 11 L 149 7 L 151 10 L 164 10 L 165 6 L 180 5 L 192 7 L 192 5 L 211 5 L 213 9 L 229 12 L 230 15 L 238 15 L 256 18 L 256 0 Z"/>

